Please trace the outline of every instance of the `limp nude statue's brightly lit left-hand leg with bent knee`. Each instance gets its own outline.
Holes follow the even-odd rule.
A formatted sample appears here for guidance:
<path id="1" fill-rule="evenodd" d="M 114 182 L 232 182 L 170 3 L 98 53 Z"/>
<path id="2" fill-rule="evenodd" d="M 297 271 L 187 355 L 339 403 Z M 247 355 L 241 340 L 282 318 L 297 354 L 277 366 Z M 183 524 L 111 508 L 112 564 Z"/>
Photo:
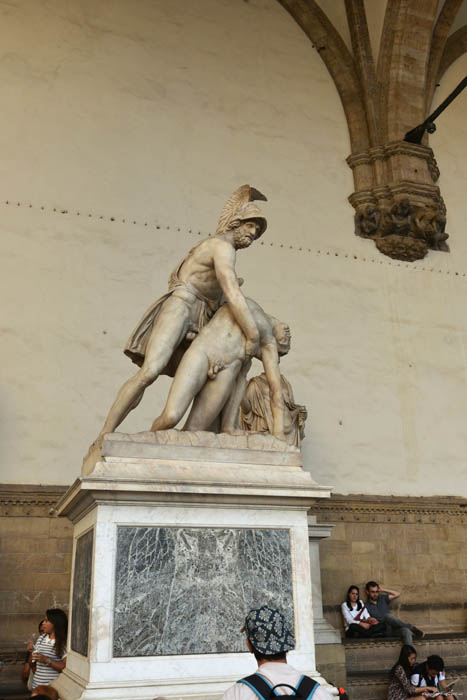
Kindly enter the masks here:
<path id="1" fill-rule="evenodd" d="M 207 381 L 208 368 L 208 356 L 201 338 L 198 337 L 182 357 L 170 387 L 165 408 L 151 426 L 154 433 L 177 425 L 193 398 Z"/>

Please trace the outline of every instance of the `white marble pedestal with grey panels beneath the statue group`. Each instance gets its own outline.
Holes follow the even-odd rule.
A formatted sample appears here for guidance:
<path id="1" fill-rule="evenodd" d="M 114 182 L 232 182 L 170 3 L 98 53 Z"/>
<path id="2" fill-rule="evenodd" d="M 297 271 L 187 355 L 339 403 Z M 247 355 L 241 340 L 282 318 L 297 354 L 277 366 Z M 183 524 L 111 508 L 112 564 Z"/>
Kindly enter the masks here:
<path id="1" fill-rule="evenodd" d="M 57 506 L 74 524 L 63 700 L 220 698 L 255 661 L 240 632 L 267 603 L 315 667 L 307 510 L 328 497 L 299 450 L 263 435 L 106 436 Z"/>

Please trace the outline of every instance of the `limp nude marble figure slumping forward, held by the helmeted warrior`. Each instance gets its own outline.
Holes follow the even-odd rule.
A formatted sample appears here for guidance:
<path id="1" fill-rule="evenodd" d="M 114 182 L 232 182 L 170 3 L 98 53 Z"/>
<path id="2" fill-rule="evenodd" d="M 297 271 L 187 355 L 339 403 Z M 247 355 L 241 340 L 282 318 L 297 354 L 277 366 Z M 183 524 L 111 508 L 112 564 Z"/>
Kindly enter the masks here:
<path id="1" fill-rule="evenodd" d="M 290 330 L 252 299 L 246 302 L 259 332 L 255 357 L 262 361 L 270 387 L 273 434 L 285 440 L 279 355 L 289 351 Z M 193 399 L 184 430 L 209 430 L 223 409 L 221 430 L 233 430 L 251 364 L 246 342 L 232 310 L 224 304 L 186 350 L 165 408 L 151 430 L 175 427 Z"/>

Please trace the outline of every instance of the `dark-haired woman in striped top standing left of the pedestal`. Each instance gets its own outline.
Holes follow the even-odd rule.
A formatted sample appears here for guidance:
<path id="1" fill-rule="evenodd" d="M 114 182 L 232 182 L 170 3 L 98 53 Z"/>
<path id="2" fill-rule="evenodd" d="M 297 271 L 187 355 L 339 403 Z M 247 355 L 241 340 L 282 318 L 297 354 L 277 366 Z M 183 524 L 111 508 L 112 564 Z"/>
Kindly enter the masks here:
<path id="1" fill-rule="evenodd" d="M 49 685 L 65 668 L 67 630 L 68 619 L 63 610 L 47 610 L 44 634 L 37 640 L 32 653 L 33 689 L 38 685 Z"/>

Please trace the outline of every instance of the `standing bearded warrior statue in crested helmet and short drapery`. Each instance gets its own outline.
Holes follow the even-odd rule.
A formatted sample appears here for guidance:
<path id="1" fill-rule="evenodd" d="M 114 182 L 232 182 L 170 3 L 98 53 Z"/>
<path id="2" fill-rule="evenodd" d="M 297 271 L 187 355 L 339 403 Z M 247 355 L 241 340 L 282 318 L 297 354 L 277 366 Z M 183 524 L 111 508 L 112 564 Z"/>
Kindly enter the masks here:
<path id="1" fill-rule="evenodd" d="M 248 248 L 266 230 L 266 219 L 253 204 L 258 199 L 266 201 L 254 187 L 239 187 L 222 210 L 216 235 L 189 251 L 170 275 L 168 292 L 146 311 L 124 351 L 140 369 L 121 387 L 94 445 L 136 408 L 160 374 L 174 376 L 189 342 L 224 299 L 245 335 L 246 354 L 257 352 L 259 333 L 240 289 L 235 260 L 237 250 Z"/>

